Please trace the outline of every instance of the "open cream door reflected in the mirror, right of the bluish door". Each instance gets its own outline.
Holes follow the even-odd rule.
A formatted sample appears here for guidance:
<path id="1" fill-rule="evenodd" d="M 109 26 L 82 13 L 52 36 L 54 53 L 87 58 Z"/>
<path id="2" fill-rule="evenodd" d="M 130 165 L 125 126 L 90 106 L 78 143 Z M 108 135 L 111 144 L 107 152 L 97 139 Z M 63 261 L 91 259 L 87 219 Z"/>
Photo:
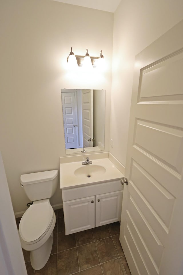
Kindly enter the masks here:
<path id="1" fill-rule="evenodd" d="M 93 147 L 93 90 L 82 90 L 83 147 Z"/>

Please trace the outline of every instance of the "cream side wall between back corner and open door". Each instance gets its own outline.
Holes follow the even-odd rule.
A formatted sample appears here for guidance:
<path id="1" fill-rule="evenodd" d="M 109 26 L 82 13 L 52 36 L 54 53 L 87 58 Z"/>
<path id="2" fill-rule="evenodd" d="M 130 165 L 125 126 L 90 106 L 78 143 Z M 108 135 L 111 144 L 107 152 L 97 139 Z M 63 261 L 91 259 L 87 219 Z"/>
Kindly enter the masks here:
<path id="1" fill-rule="evenodd" d="M 182 19 L 182 0 L 122 0 L 114 13 L 110 152 L 124 166 L 135 55 Z"/>

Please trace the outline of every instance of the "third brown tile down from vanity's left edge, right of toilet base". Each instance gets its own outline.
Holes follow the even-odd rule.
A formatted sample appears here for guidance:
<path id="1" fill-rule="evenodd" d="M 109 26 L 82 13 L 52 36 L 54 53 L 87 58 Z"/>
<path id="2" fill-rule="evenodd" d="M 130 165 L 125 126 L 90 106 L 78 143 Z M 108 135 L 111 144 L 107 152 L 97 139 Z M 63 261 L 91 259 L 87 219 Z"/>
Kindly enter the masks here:
<path id="1" fill-rule="evenodd" d="M 59 252 L 57 255 L 57 275 L 69 275 L 79 271 L 76 248 Z"/>

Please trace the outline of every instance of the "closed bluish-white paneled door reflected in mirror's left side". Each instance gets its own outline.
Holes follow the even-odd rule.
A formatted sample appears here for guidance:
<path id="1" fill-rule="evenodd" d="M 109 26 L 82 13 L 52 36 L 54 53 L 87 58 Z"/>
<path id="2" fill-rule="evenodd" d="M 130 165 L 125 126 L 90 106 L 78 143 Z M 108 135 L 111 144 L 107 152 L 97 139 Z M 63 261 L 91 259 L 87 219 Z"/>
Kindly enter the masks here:
<path id="1" fill-rule="evenodd" d="M 65 149 L 77 148 L 77 109 L 75 107 L 75 93 L 61 93 L 61 96 Z"/>

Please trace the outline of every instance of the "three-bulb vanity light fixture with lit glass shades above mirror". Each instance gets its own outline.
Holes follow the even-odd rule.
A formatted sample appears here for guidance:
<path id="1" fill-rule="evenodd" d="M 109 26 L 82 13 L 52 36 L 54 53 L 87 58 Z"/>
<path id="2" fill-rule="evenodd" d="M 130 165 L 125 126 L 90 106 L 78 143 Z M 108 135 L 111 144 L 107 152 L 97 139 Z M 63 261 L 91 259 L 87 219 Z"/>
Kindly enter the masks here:
<path id="1" fill-rule="evenodd" d="M 71 60 L 71 62 L 70 62 Z M 74 60 L 74 61 L 73 61 Z M 76 62 L 75 62 L 76 60 Z M 85 68 L 96 68 L 96 67 L 101 67 L 101 64 L 104 61 L 104 56 L 102 54 L 102 51 L 100 51 L 100 56 L 99 57 L 94 57 L 94 56 L 89 56 L 88 54 L 88 50 L 86 49 L 86 53 L 84 56 L 82 55 L 74 55 L 72 48 L 71 48 L 71 52 L 69 54 L 69 56 L 67 57 L 67 62 L 69 64 L 69 66 L 72 66 L 72 62 L 73 62 L 73 66 L 72 68 L 76 67 L 77 65 L 79 67 L 84 66 Z"/>

